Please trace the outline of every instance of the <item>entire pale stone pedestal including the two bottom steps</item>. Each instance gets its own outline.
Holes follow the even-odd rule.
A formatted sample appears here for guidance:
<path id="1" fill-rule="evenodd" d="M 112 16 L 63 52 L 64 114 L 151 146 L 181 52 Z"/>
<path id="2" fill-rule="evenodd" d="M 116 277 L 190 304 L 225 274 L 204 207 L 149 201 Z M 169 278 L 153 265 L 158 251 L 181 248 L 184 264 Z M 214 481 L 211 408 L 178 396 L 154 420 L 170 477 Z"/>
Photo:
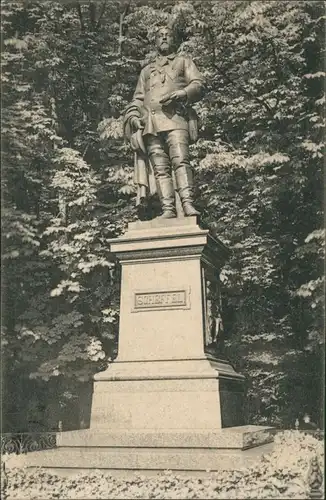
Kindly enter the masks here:
<path id="1" fill-rule="evenodd" d="M 109 244 L 122 274 L 117 359 L 95 376 L 90 429 L 60 434 L 59 448 L 30 455 L 29 465 L 205 471 L 249 464 L 272 434 L 244 425 L 244 377 L 221 355 L 216 300 L 227 248 L 195 217 L 131 223 Z M 261 452 L 248 451 L 254 447 Z"/>

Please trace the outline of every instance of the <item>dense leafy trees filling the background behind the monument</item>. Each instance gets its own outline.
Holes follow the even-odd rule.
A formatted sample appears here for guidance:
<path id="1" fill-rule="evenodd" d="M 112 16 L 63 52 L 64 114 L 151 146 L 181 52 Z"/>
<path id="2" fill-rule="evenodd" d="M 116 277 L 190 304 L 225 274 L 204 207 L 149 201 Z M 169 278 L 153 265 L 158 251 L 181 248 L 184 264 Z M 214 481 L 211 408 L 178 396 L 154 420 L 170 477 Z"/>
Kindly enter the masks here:
<path id="1" fill-rule="evenodd" d="M 232 250 L 224 323 L 249 420 L 321 425 L 325 3 L 7 1 L 1 15 L 4 429 L 64 411 L 116 355 L 106 241 L 136 218 L 121 116 L 168 18 L 206 80 L 196 196 Z"/>

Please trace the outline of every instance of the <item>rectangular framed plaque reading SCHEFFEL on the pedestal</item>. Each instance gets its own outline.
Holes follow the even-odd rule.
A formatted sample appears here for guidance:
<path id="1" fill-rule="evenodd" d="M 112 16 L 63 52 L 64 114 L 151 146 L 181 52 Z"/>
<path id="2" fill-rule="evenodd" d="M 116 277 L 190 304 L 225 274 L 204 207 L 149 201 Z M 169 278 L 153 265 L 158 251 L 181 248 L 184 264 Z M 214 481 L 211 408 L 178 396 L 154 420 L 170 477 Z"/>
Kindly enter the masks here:
<path id="1" fill-rule="evenodd" d="M 187 290 L 137 291 L 134 295 L 133 311 L 188 308 L 189 292 Z"/>

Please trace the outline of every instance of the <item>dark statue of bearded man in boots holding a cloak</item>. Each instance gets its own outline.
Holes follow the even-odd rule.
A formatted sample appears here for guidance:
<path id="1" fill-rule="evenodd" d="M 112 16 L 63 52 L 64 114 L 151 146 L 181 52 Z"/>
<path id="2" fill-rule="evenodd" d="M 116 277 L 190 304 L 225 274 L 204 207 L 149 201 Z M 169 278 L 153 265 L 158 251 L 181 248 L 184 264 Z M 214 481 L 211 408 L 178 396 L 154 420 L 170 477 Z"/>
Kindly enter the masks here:
<path id="1" fill-rule="evenodd" d="M 203 77 L 189 57 L 175 53 L 171 28 L 158 29 L 156 47 L 158 55 L 142 69 L 124 117 L 125 137 L 135 151 L 137 205 L 157 190 L 161 218 L 176 217 L 176 189 L 184 215 L 199 215 L 189 163 L 198 125 L 190 104 L 200 98 Z"/>

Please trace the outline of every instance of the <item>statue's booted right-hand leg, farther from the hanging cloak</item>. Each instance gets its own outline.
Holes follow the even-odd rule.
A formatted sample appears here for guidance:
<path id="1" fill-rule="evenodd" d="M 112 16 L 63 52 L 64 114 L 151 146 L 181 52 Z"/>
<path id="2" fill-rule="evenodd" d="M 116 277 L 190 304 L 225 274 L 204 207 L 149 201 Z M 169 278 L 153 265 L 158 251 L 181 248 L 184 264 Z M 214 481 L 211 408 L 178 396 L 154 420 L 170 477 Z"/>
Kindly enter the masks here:
<path id="1" fill-rule="evenodd" d="M 187 130 L 171 130 L 167 138 L 169 156 L 175 171 L 177 190 L 186 216 L 199 215 L 193 206 L 193 172 L 189 163 L 189 133 Z"/>

